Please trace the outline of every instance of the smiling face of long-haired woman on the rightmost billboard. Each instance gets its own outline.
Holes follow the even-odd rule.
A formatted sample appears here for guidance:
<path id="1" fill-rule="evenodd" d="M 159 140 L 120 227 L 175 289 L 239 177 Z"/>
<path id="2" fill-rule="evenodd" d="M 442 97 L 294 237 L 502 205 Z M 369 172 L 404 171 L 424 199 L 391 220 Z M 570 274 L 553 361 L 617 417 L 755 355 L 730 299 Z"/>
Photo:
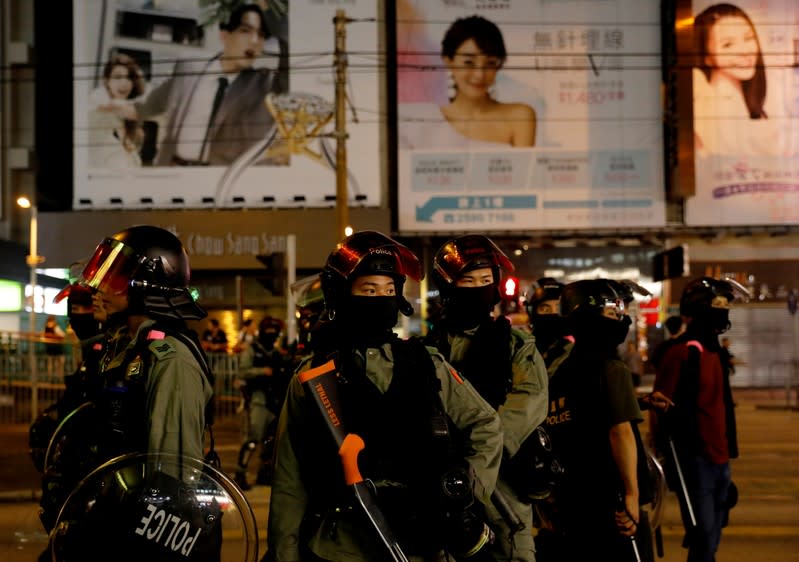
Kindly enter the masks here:
<path id="1" fill-rule="evenodd" d="M 755 30 L 741 17 L 720 18 L 708 34 L 706 63 L 714 73 L 738 81 L 755 75 L 758 45 Z"/>

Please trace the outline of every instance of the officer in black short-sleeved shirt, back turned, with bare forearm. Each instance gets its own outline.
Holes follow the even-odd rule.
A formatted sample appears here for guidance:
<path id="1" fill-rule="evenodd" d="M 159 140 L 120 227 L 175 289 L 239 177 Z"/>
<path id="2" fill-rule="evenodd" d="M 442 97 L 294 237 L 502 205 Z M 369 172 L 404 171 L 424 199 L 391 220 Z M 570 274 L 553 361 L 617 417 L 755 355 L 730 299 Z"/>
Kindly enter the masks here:
<path id="1" fill-rule="evenodd" d="M 642 420 L 617 347 L 631 319 L 608 279 L 569 283 L 560 299 L 575 337 L 568 358 L 549 381 L 546 427 L 564 473 L 548 513 L 552 528 L 536 537 L 541 560 L 636 560 L 651 552 L 639 523 L 639 443 Z M 635 540 L 631 540 L 634 538 Z M 650 541 L 648 549 L 642 542 Z M 640 548 L 639 548 L 640 547 Z"/>

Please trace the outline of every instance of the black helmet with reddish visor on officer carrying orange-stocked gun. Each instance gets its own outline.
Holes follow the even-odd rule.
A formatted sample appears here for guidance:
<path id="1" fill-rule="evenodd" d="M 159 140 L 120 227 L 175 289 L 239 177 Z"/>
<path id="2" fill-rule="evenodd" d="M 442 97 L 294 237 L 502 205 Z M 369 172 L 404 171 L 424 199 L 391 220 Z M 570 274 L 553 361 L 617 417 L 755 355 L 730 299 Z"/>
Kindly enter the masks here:
<path id="1" fill-rule="evenodd" d="M 364 275 L 387 275 L 394 279 L 399 310 L 405 316 L 413 307 L 402 296 L 405 279 L 422 279 L 422 266 L 414 253 L 393 238 L 374 230 L 356 232 L 343 241 L 327 258 L 320 274 L 325 308 L 334 315 L 347 298 L 356 278 Z"/>

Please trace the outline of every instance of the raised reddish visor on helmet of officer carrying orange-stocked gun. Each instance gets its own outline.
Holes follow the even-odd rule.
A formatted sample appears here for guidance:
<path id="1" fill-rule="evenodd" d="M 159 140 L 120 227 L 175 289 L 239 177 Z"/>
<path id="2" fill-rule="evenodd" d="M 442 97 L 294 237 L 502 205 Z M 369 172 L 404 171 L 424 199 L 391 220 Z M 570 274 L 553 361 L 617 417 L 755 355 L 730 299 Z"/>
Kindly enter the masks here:
<path id="1" fill-rule="evenodd" d="M 341 242 L 328 258 L 327 267 L 349 279 L 364 258 L 371 255 L 393 257 L 397 275 L 410 277 L 414 281 L 422 279 L 419 258 L 406 246 L 379 232 L 361 232 Z"/>

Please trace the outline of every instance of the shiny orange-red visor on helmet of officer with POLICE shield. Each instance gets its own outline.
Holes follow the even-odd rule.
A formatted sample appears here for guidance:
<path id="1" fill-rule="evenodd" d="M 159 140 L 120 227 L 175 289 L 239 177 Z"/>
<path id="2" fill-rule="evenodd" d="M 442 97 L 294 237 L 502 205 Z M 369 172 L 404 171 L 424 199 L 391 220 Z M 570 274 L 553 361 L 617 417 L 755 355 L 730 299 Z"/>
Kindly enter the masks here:
<path id="1" fill-rule="evenodd" d="M 121 295 L 139 268 L 136 251 L 126 244 L 106 238 L 97 246 L 77 283 L 94 291 Z"/>

